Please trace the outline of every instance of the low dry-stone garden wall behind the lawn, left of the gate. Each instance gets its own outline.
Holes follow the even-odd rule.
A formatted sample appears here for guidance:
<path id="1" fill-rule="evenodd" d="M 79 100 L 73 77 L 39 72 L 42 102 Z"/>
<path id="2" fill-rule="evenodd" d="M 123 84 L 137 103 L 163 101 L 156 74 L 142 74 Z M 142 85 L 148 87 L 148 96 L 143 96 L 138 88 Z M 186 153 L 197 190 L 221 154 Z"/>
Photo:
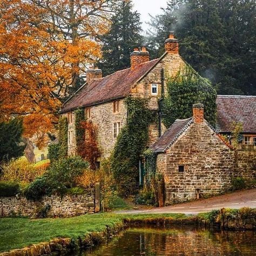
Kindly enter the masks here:
<path id="1" fill-rule="evenodd" d="M 47 217 L 91 214 L 95 212 L 95 189 L 90 188 L 78 196 L 51 196 L 36 202 L 24 197 L 0 197 L 0 217 L 19 215 L 36 218 L 46 205 L 50 205 Z"/>

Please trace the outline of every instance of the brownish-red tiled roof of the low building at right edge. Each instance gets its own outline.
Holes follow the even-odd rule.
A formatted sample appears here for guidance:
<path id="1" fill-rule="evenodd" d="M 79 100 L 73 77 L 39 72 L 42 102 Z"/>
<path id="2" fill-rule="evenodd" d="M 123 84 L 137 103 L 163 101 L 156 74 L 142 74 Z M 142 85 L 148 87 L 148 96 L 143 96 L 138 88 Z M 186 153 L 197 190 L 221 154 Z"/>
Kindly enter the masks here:
<path id="1" fill-rule="evenodd" d="M 230 132 L 232 122 L 241 122 L 243 132 L 256 132 L 256 96 L 217 96 L 218 132 Z"/>

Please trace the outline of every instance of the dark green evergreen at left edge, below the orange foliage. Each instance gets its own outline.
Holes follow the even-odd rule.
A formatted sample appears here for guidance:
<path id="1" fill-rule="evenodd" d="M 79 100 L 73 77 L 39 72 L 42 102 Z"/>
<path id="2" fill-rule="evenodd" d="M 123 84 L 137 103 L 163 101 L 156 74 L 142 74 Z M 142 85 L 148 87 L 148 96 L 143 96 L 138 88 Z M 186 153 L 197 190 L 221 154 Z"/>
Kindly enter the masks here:
<path id="1" fill-rule="evenodd" d="M 25 143 L 22 141 L 21 119 L 0 123 L 0 162 L 23 156 Z"/>

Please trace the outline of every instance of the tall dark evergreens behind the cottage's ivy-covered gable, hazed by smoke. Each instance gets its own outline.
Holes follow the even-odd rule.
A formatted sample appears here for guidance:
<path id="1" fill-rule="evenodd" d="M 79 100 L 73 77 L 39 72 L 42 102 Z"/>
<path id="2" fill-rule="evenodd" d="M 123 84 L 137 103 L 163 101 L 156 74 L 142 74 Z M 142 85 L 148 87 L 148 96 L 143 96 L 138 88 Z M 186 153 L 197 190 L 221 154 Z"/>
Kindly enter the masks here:
<path id="1" fill-rule="evenodd" d="M 176 31 L 180 55 L 218 93 L 256 95 L 255 14 L 253 0 L 171 0 L 152 17 L 147 40 L 156 56 L 168 31 Z"/>

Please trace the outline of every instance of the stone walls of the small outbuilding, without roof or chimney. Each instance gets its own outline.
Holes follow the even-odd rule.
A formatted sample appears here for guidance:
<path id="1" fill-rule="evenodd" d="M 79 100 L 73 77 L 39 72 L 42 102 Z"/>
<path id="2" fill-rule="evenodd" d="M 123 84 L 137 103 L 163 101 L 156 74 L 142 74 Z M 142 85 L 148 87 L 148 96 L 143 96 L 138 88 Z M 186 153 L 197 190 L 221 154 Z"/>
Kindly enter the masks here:
<path id="1" fill-rule="evenodd" d="M 158 155 L 164 174 L 166 204 L 230 190 L 234 152 L 205 123 L 193 123 L 169 150 Z M 178 166 L 184 166 L 179 172 Z"/>

